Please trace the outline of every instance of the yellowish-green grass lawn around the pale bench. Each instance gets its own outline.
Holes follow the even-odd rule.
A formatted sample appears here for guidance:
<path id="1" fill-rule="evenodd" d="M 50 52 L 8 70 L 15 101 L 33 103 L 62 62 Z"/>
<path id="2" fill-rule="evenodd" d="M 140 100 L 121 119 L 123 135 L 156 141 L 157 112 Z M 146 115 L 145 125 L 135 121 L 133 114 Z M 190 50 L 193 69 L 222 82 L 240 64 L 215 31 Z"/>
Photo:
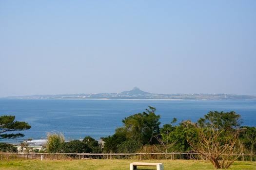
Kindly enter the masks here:
<path id="1" fill-rule="evenodd" d="M 215 170 L 210 162 L 199 160 L 2 160 L 0 170 L 129 170 L 132 162 L 163 163 L 164 170 Z M 156 167 L 142 167 L 156 170 Z M 256 170 L 256 162 L 236 161 L 230 170 Z"/>

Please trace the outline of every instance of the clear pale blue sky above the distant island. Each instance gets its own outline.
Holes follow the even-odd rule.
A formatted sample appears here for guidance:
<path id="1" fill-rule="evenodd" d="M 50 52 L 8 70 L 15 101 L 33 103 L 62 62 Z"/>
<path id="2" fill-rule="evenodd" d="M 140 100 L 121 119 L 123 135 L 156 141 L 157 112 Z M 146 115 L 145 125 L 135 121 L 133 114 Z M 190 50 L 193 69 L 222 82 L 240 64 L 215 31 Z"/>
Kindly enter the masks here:
<path id="1" fill-rule="evenodd" d="M 256 0 L 0 0 L 0 97 L 256 95 Z"/>

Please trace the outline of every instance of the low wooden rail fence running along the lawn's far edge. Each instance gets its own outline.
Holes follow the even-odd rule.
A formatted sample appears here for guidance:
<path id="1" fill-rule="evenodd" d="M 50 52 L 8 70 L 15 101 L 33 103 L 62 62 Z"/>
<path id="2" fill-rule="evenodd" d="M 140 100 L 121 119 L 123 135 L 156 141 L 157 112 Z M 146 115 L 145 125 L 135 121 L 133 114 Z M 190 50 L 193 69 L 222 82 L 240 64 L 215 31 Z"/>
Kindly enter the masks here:
<path id="1" fill-rule="evenodd" d="M 200 153 L 0 153 L 1 160 L 83 160 L 83 159 L 201 159 Z M 233 154 L 233 156 L 238 154 Z M 253 161 L 255 154 L 242 154 L 239 160 Z"/>

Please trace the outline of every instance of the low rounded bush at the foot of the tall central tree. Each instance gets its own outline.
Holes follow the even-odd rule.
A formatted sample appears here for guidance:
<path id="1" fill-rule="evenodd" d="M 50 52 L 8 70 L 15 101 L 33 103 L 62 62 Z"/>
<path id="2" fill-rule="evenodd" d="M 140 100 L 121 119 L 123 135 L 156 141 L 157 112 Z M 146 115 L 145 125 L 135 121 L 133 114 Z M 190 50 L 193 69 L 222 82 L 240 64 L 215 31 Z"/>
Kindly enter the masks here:
<path id="1" fill-rule="evenodd" d="M 126 140 L 119 144 L 118 153 L 137 153 L 143 145 L 136 140 Z"/>

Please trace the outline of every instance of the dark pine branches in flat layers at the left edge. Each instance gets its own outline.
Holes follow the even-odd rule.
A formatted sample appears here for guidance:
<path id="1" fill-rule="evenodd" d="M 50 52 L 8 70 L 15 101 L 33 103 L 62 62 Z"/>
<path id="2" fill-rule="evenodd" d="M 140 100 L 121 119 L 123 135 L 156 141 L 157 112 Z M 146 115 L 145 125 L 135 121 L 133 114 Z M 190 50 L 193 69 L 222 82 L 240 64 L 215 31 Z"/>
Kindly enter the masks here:
<path id="1" fill-rule="evenodd" d="M 0 116 L 0 139 L 14 139 L 23 137 L 23 134 L 2 134 L 12 131 L 28 130 L 31 126 L 24 121 L 14 121 L 15 116 Z"/>

